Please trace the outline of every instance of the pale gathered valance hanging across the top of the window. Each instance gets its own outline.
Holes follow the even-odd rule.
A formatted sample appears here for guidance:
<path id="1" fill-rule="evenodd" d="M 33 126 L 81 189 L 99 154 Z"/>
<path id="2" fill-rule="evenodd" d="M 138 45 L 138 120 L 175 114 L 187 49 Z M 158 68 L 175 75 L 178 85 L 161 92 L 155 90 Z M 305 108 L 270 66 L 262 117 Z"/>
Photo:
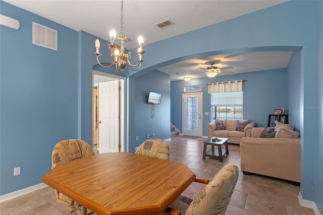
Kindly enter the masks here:
<path id="1" fill-rule="evenodd" d="M 207 93 L 217 92 L 241 92 L 243 80 L 209 83 Z"/>

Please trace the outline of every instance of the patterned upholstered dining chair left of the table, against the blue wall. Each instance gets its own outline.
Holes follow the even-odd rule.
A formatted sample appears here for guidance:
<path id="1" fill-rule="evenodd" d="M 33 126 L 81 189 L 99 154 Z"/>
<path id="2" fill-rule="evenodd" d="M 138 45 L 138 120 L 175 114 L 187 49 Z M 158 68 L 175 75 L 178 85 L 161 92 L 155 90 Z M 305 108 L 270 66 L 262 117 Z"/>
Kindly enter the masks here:
<path id="1" fill-rule="evenodd" d="M 68 139 L 57 143 L 51 153 L 51 169 L 56 168 L 61 164 L 72 162 L 73 160 L 85 158 L 94 155 L 94 151 L 83 140 Z M 56 200 L 62 204 L 70 206 L 70 212 L 75 211 L 78 214 L 83 214 L 74 205 L 80 207 L 81 205 L 74 200 L 70 199 L 66 195 L 55 190 Z M 83 208 L 83 207 L 82 207 Z M 89 213 L 92 214 L 93 212 Z"/>

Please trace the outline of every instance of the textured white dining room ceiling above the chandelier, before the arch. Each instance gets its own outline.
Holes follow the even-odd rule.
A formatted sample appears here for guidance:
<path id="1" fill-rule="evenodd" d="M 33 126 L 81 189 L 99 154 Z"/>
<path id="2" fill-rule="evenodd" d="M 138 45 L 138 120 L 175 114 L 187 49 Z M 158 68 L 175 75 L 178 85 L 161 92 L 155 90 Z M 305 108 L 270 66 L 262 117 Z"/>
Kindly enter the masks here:
<path id="1" fill-rule="evenodd" d="M 121 33 L 121 1 L 96 0 L 4 0 L 19 8 L 50 19 L 76 31 L 83 30 L 110 41 L 110 30 Z M 124 34 L 138 46 L 163 40 L 286 1 L 128 1 L 123 3 Z M 171 19 L 175 25 L 159 29 L 155 24 Z"/>

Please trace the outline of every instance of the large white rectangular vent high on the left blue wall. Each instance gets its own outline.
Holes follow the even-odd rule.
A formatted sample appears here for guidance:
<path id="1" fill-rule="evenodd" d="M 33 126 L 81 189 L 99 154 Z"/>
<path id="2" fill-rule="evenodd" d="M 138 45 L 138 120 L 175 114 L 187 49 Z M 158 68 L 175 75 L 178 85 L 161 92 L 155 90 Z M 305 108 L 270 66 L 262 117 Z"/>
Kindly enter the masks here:
<path id="1" fill-rule="evenodd" d="M 57 50 L 57 30 L 32 22 L 32 44 Z"/>

